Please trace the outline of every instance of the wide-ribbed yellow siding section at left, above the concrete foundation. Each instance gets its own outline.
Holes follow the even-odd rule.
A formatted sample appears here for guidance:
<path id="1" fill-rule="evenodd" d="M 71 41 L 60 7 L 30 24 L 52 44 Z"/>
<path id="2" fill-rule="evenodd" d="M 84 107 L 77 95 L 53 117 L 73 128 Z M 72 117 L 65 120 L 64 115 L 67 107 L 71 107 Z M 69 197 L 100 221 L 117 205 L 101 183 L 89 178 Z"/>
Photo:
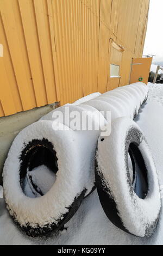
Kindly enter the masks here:
<path id="1" fill-rule="evenodd" d="M 4 114 L 57 101 L 47 1 L 1 0 L 0 11 L 0 68 L 7 70 L 0 89 Z"/>

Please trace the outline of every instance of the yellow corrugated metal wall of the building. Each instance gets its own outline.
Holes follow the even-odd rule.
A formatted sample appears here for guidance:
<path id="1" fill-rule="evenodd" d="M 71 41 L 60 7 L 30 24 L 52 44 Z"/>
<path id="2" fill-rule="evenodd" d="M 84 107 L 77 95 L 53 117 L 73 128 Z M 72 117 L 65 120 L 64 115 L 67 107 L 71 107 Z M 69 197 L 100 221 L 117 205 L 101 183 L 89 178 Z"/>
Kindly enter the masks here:
<path id="1" fill-rule="evenodd" d="M 119 84 L 127 84 L 148 7 L 149 0 L 0 0 L 0 117 L 111 89 L 112 40 L 124 47 Z"/>

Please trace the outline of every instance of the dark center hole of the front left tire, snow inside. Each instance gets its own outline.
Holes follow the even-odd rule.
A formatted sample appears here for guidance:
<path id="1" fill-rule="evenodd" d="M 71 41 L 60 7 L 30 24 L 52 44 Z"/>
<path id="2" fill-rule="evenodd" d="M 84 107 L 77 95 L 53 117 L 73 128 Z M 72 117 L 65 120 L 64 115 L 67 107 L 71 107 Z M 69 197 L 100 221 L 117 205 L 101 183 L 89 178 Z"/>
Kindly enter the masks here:
<path id="1" fill-rule="evenodd" d="M 53 186 L 58 171 L 58 159 L 50 142 L 32 145 L 22 152 L 20 184 L 28 197 L 40 197 Z M 49 146 L 49 147 L 48 147 Z"/>

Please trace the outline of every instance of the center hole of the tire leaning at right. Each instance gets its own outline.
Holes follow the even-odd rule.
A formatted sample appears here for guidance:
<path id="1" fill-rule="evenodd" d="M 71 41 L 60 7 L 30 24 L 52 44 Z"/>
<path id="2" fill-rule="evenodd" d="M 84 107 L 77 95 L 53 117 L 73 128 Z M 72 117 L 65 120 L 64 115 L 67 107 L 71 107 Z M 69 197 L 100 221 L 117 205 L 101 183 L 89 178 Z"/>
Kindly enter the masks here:
<path id="1" fill-rule="evenodd" d="M 137 143 L 132 142 L 128 150 L 128 169 L 134 192 L 145 199 L 148 192 L 147 168 Z"/>

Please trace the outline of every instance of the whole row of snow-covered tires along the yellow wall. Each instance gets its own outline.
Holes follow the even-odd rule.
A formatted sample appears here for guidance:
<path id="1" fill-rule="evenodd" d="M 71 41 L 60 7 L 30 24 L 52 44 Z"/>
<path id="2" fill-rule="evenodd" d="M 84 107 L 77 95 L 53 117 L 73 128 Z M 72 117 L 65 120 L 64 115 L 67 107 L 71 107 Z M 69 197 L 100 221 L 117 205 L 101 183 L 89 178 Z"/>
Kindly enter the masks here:
<path id="1" fill-rule="evenodd" d="M 160 212 L 158 177 L 147 141 L 133 121 L 147 96 L 147 86 L 135 83 L 84 97 L 54 109 L 16 136 L 4 164 L 3 188 L 10 215 L 21 229 L 30 236 L 62 229 L 97 187 L 112 223 L 137 236 L 153 234 Z M 54 122 L 57 111 L 64 118 Z M 75 130 L 73 111 L 85 111 L 94 124 L 111 122 L 110 136 L 96 129 Z M 55 175 L 49 176 L 49 190 L 46 172 L 42 180 L 41 171 L 34 175 L 40 166 Z"/>

